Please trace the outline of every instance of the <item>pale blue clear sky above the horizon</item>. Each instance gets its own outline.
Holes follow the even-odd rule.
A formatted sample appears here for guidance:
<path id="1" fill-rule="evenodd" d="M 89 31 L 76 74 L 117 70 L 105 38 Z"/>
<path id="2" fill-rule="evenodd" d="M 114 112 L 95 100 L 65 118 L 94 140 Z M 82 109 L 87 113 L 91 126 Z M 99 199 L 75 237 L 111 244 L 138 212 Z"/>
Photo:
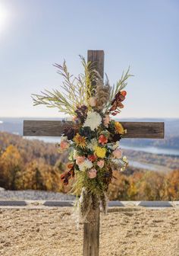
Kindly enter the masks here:
<path id="1" fill-rule="evenodd" d="M 87 50 L 111 85 L 130 66 L 120 117 L 179 117 L 178 27 L 177 0 L 0 0 L 0 117 L 61 117 L 30 95 L 61 90 L 52 64 L 78 75 Z"/>

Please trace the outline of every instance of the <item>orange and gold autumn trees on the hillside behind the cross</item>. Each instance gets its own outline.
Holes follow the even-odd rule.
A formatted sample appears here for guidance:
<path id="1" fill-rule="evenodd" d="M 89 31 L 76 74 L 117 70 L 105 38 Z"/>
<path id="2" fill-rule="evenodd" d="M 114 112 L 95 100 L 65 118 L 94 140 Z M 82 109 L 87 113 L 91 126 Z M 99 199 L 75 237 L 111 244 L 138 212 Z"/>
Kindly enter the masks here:
<path id="1" fill-rule="evenodd" d="M 61 182 L 66 155 L 55 145 L 0 133 L 0 187 L 8 190 L 50 190 L 66 193 Z M 73 183 L 74 181 L 71 181 Z M 109 186 L 110 200 L 179 200 L 179 169 L 168 173 L 129 167 L 114 171 Z"/>

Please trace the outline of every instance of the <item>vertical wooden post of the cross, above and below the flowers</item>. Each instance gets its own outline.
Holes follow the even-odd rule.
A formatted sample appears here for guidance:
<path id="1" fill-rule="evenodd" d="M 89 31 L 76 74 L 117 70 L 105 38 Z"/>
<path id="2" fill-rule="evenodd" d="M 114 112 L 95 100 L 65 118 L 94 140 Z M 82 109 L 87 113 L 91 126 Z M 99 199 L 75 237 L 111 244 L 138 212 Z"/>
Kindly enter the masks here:
<path id="1" fill-rule="evenodd" d="M 88 50 L 88 62 L 94 62 L 95 69 L 104 77 L 104 51 Z M 99 256 L 99 207 L 90 210 L 83 229 L 83 256 Z"/>

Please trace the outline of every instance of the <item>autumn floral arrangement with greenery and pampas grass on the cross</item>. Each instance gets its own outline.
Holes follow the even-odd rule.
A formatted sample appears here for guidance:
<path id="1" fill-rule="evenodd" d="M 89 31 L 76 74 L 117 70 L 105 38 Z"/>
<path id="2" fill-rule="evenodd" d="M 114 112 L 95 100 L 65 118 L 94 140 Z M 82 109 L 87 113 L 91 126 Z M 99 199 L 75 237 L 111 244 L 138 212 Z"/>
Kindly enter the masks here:
<path id="1" fill-rule="evenodd" d="M 74 126 L 64 128 L 58 145 L 59 152 L 69 152 L 67 170 L 61 174 L 61 180 L 68 185 L 74 178 L 71 192 L 77 195 L 77 209 L 86 219 L 89 210 L 96 209 L 100 201 L 102 209 L 107 211 L 106 192 L 113 170 L 124 171 L 127 167 L 127 158 L 119 146 L 127 130 L 111 116 L 120 113 L 124 107 L 127 92 L 123 89 L 131 75 L 128 69 L 111 87 L 107 75 L 104 83 L 94 63 L 86 63 L 82 56 L 80 58 L 83 74 L 70 75 L 65 61 L 63 66 L 55 64 L 64 79 L 61 91 L 33 94 L 33 102 L 58 107 L 59 111 L 73 118 Z"/>

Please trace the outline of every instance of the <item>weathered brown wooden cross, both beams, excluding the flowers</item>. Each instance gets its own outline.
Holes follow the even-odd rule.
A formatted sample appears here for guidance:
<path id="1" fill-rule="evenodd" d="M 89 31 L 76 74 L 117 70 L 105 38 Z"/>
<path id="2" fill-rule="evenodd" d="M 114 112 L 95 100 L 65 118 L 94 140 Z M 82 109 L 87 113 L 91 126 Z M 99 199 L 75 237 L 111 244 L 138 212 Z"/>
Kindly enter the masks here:
<path id="1" fill-rule="evenodd" d="M 94 62 L 96 70 L 104 77 L 104 51 L 88 50 L 88 62 Z M 125 138 L 163 139 L 163 122 L 120 122 L 127 129 Z M 71 121 L 24 120 L 24 136 L 61 136 Z M 99 256 L 99 208 L 91 210 L 83 227 L 83 256 Z M 93 219 L 91 219 L 93 218 Z M 93 222 L 91 222 L 93 220 Z"/>

